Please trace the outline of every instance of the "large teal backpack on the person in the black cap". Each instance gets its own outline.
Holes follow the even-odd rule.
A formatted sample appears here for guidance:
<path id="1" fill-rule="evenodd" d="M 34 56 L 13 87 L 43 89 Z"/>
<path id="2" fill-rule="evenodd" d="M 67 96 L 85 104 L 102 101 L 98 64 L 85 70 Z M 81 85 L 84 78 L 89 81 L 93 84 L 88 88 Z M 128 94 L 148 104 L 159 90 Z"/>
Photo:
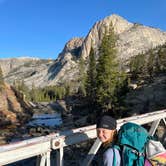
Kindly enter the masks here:
<path id="1" fill-rule="evenodd" d="M 145 144 L 149 140 L 146 129 L 135 123 L 125 123 L 118 132 L 123 166 L 144 166 Z"/>

